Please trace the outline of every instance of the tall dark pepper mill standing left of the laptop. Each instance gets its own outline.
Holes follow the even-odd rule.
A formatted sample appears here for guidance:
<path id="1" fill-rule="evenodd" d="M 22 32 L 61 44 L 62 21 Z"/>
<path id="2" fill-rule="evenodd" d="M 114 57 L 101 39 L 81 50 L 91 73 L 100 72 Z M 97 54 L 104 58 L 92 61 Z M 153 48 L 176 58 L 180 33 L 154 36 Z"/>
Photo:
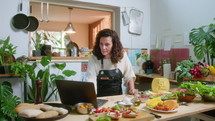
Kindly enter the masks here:
<path id="1" fill-rule="evenodd" d="M 36 96 L 35 96 L 35 104 L 42 103 L 42 80 L 36 80 Z"/>

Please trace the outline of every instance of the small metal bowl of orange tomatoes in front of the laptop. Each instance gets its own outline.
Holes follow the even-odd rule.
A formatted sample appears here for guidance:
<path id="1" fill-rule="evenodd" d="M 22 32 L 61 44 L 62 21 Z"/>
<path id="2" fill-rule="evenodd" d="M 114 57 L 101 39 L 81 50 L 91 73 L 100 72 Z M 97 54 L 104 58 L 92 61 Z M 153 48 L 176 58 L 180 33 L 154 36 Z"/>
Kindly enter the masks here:
<path id="1" fill-rule="evenodd" d="M 92 103 L 80 102 L 75 105 L 75 108 L 79 114 L 89 114 L 94 107 Z"/>

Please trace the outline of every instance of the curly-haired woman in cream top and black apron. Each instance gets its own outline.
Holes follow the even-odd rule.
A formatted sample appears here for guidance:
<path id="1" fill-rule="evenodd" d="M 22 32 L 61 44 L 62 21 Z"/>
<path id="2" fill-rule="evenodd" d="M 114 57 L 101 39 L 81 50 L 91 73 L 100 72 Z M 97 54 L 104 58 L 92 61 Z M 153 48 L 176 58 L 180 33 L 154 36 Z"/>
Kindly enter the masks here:
<path id="1" fill-rule="evenodd" d="M 101 30 L 89 58 L 87 80 L 97 88 L 97 96 L 122 94 L 122 78 L 129 86 L 129 94 L 134 94 L 135 74 L 131 63 L 123 51 L 117 33 L 110 29 Z"/>

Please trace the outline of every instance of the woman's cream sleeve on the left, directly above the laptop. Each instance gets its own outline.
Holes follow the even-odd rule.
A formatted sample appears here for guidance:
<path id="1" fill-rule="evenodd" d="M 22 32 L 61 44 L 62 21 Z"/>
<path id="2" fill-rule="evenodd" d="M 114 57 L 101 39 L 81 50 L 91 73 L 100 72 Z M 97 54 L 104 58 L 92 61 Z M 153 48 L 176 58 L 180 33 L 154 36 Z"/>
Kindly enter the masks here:
<path id="1" fill-rule="evenodd" d="M 87 67 L 87 78 L 88 82 L 93 82 L 95 86 L 95 90 L 97 91 L 97 82 L 96 82 L 97 74 L 96 74 L 96 63 L 93 58 L 93 55 L 89 57 L 88 67 Z"/>

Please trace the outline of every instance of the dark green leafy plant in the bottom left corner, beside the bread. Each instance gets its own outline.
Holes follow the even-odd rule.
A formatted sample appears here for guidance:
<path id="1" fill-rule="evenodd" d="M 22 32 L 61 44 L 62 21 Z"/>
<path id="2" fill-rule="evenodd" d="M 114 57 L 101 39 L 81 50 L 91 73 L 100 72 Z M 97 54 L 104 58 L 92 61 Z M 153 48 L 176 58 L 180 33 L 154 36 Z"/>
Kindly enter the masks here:
<path id="1" fill-rule="evenodd" d="M 20 98 L 13 95 L 11 84 L 7 81 L 0 84 L 0 121 L 12 121 L 19 118 L 14 112 L 15 107 L 21 103 Z"/>

